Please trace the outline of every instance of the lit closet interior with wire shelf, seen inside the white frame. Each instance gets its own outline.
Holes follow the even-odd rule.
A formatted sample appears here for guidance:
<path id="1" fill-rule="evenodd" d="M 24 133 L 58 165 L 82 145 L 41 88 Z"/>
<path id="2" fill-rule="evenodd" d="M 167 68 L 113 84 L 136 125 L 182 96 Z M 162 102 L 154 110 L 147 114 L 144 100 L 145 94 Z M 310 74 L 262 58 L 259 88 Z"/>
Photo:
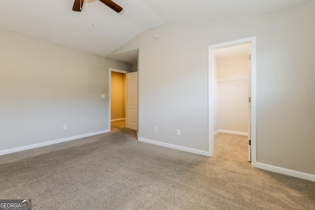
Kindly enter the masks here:
<path id="1" fill-rule="evenodd" d="M 251 155 L 247 154 L 250 48 L 246 43 L 214 50 L 214 145 L 224 149 L 222 157 L 244 161 Z"/>

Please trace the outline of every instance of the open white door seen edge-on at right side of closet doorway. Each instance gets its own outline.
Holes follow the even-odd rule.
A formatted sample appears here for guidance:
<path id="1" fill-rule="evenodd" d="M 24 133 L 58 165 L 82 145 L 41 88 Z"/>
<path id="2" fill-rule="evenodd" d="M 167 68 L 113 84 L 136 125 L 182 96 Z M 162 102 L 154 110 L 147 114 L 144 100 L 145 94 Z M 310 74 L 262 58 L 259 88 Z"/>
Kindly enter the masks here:
<path id="1" fill-rule="evenodd" d="M 248 49 L 248 161 L 252 161 L 252 141 L 251 141 L 251 130 L 252 130 L 252 44 L 249 45 Z"/>

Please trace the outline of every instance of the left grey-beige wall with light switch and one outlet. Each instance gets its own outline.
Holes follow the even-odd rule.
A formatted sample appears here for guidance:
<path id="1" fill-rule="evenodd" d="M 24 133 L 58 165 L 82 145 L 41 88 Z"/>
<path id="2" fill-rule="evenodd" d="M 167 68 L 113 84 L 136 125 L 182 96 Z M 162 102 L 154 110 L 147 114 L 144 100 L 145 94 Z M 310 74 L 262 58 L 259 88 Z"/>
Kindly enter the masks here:
<path id="1" fill-rule="evenodd" d="M 109 130 L 109 68 L 132 66 L 0 29 L 0 151 Z"/>

